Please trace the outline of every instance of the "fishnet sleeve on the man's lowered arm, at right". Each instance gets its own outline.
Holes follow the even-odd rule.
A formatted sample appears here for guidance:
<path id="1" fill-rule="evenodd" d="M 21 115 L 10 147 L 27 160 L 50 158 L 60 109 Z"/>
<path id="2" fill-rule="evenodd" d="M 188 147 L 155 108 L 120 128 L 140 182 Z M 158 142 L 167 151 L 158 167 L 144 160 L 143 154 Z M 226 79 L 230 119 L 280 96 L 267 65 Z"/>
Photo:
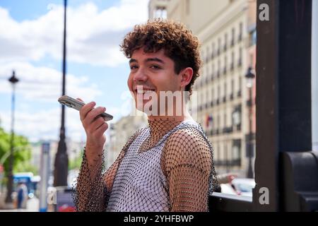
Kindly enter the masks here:
<path id="1" fill-rule="evenodd" d="M 171 211 L 208 211 L 212 150 L 196 129 L 173 133 L 163 150 Z"/>

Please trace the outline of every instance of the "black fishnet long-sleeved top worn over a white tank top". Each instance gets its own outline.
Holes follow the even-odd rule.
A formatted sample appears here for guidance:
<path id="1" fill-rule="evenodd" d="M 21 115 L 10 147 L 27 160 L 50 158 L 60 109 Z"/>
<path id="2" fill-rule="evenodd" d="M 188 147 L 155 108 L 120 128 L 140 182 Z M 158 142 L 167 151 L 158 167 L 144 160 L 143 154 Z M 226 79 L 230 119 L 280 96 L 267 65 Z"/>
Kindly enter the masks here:
<path id="1" fill-rule="evenodd" d="M 148 122 L 106 172 L 102 160 L 88 165 L 84 151 L 73 193 L 76 210 L 208 210 L 218 182 L 213 148 L 201 126 L 192 120 Z"/>

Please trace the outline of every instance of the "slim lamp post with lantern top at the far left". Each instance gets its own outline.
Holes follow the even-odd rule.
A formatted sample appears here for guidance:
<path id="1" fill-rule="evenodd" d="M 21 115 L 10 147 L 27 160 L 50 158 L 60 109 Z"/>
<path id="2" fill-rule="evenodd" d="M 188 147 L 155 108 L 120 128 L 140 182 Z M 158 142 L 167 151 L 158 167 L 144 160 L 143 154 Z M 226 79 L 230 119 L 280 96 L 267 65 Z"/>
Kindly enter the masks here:
<path id="1" fill-rule="evenodd" d="M 6 192 L 6 203 L 12 203 L 12 191 L 13 191 L 13 149 L 14 149 L 14 110 L 16 104 L 16 83 L 18 83 L 18 78 L 16 78 L 16 72 L 12 72 L 11 78 L 8 81 L 12 84 L 12 104 L 11 104 L 11 139 L 10 139 L 10 157 L 8 164 L 8 184 Z"/>

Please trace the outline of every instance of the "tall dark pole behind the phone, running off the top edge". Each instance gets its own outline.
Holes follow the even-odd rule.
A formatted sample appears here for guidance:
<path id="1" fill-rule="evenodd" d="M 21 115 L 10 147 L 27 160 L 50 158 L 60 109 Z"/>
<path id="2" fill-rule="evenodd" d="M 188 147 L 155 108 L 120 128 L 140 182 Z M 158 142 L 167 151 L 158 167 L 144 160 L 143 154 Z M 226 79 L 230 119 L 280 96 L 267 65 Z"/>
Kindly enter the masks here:
<path id="1" fill-rule="evenodd" d="M 63 44 L 63 81 L 62 81 L 62 95 L 65 95 L 65 74 L 66 74 L 66 5 L 64 0 L 64 44 Z M 67 186 L 67 174 L 69 157 L 66 152 L 65 143 L 65 108 L 61 105 L 61 129 L 59 132 L 59 146 L 54 162 L 54 186 Z"/>

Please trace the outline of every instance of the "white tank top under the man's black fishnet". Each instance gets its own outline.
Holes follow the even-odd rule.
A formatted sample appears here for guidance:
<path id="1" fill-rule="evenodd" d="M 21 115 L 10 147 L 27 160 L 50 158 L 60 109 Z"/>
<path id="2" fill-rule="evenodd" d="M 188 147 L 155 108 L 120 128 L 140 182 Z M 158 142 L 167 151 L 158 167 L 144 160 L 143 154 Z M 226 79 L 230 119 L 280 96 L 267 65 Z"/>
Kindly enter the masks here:
<path id="1" fill-rule="evenodd" d="M 167 179 L 160 166 L 165 141 L 178 129 L 201 126 L 193 120 L 182 121 L 158 141 L 155 147 L 139 153 L 139 147 L 148 138 L 150 129 L 143 129 L 131 143 L 117 170 L 107 204 L 107 211 L 162 212 L 170 210 Z M 203 132 L 203 131 L 202 131 Z"/>

